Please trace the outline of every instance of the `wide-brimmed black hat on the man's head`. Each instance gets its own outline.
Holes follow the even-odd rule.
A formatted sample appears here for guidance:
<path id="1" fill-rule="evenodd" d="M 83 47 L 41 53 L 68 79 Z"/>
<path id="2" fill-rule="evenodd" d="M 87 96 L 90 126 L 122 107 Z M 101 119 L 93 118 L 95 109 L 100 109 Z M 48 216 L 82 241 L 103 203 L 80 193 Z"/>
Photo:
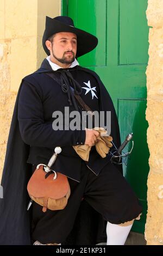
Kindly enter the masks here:
<path id="1" fill-rule="evenodd" d="M 58 16 L 52 19 L 46 16 L 46 26 L 42 38 L 42 45 L 47 55 L 49 55 L 49 50 L 45 44 L 46 40 L 53 34 L 59 32 L 71 32 L 77 35 L 76 57 L 80 57 L 85 53 L 92 51 L 98 44 L 98 39 L 95 35 L 87 33 L 82 29 L 75 28 L 73 20 L 70 17 Z"/>

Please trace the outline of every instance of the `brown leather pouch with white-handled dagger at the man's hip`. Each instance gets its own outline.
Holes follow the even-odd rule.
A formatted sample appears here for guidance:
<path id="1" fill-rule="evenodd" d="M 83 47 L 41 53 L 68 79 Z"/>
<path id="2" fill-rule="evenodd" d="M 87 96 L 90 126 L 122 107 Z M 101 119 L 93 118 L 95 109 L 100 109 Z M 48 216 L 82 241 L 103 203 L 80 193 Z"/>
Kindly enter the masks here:
<path id="1" fill-rule="evenodd" d="M 47 166 L 38 164 L 27 185 L 30 198 L 43 206 L 43 212 L 64 209 L 71 193 L 67 177 L 50 169 L 56 157 L 55 151 Z"/>

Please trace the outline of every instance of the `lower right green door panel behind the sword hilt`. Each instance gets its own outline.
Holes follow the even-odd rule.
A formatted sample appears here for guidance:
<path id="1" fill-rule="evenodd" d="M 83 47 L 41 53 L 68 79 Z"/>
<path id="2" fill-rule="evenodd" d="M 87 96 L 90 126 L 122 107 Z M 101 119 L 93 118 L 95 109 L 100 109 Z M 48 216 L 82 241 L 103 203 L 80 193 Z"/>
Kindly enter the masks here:
<path id="1" fill-rule="evenodd" d="M 125 111 L 121 111 L 121 109 L 125 109 Z M 131 131 L 134 133 L 134 148 L 127 161 L 127 166 L 125 164 L 123 166 L 123 173 L 141 200 L 146 200 L 147 197 L 148 176 L 148 169 L 146 168 L 148 166 L 148 158 L 144 157 L 144 152 L 148 150 L 146 143 L 147 121 L 144 118 L 145 111 L 146 100 L 118 100 L 118 119 L 121 137 L 124 140 L 126 134 Z M 131 145 L 132 143 L 127 145 L 127 151 L 131 150 Z M 140 190 L 140 187 L 144 189 Z"/>

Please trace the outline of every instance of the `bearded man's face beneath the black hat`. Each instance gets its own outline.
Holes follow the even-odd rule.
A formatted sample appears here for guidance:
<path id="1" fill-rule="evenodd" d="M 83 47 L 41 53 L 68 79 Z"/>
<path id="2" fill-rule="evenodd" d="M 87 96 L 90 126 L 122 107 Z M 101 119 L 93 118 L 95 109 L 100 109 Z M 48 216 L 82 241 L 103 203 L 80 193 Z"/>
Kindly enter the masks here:
<path id="1" fill-rule="evenodd" d="M 51 52 L 52 62 L 66 68 L 74 61 L 77 54 L 77 35 L 69 32 L 60 32 L 54 35 L 53 41 L 46 41 Z"/>

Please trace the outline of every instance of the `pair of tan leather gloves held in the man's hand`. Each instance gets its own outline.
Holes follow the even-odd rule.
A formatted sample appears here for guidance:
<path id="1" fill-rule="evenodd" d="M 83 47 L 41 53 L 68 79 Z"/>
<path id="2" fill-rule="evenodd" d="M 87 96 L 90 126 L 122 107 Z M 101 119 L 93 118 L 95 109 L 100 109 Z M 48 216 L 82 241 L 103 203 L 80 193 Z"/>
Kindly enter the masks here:
<path id="1" fill-rule="evenodd" d="M 97 137 L 97 142 L 95 144 L 96 150 L 101 157 L 105 157 L 106 154 L 109 153 L 109 149 L 112 147 L 111 141 L 112 137 L 111 136 L 106 136 L 106 131 L 104 130 L 103 127 L 95 127 L 93 130 L 96 130 L 99 132 L 99 136 Z M 105 136 L 104 136 L 105 135 Z M 74 150 L 76 150 L 77 154 L 84 160 L 88 161 L 89 160 L 89 154 L 91 147 L 89 145 L 76 145 L 73 146 Z"/>

